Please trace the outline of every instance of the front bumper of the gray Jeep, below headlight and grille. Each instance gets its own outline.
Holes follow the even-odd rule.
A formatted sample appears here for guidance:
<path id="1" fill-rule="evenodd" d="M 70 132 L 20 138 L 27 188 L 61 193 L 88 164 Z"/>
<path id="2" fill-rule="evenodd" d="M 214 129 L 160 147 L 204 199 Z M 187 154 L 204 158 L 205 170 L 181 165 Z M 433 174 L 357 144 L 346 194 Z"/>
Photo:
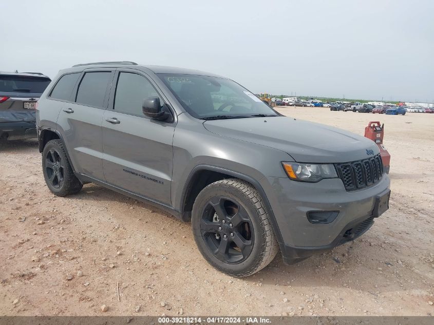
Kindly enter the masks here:
<path id="1" fill-rule="evenodd" d="M 375 197 L 387 192 L 390 180 L 384 174 L 378 183 L 351 192 L 345 190 L 341 179 L 305 183 L 268 177 L 261 180 L 261 185 L 273 210 L 284 261 L 294 263 L 331 250 L 368 230 L 373 222 L 368 222 L 363 231 L 351 233 L 372 217 Z M 331 223 L 313 224 L 307 218 L 311 211 L 338 211 L 339 214 Z"/>

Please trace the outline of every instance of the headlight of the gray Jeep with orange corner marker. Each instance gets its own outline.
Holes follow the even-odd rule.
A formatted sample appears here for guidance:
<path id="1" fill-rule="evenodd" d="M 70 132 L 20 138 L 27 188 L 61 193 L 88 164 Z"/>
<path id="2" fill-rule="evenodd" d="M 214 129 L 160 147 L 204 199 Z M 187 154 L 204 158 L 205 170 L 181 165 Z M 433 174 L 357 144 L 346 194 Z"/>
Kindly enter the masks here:
<path id="1" fill-rule="evenodd" d="M 282 162 L 288 177 L 294 181 L 318 182 L 324 178 L 337 178 L 333 164 L 299 164 Z"/>

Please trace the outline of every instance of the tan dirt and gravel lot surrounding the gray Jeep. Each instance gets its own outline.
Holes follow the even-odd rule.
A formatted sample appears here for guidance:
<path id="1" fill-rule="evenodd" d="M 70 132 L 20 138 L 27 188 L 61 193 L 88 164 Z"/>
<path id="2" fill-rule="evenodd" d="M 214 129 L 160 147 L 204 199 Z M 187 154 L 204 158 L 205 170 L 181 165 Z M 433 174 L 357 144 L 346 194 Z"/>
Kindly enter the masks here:
<path id="1" fill-rule="evenodd" d="M 102 304 L 105 315 L 434 314 L 434 114 L 279 110 L 360 134 L 370 120 L 385 123 L 391 208 L 364 236 L 233 279 L 204 261 L 190 223 L 93 184 L 55 197 L 36 142 L 9 142 L 0 147 L 0 315 L 100 315 Z"/>

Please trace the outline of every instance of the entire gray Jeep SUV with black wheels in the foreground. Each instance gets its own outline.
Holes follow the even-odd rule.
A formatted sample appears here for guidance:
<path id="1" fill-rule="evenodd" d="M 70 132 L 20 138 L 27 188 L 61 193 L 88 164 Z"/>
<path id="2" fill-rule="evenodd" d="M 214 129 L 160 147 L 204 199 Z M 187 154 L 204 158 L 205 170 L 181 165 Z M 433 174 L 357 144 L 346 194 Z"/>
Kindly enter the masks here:
<path id="1" fill-rule="evenodd" d="M 45 181 L 93 182 L 192 223 L 203 257 L 236 277 L 362 235 L 388 208 L 379 148 L 285 117 L 218 75 L 133 62 L 61 70 L 36 111 Z"/>

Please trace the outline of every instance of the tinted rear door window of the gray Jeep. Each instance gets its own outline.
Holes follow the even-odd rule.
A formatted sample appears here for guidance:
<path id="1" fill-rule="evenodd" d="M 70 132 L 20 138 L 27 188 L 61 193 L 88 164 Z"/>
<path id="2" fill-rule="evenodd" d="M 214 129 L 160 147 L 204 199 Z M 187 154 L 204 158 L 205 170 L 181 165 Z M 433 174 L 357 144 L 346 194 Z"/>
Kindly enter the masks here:
<path id="1" fill-rule="evenodd" d="M 103 107 L 104 96 L 111 71 L 86 72 L 80 82 L 76 102 L 83 105 Z"/>

